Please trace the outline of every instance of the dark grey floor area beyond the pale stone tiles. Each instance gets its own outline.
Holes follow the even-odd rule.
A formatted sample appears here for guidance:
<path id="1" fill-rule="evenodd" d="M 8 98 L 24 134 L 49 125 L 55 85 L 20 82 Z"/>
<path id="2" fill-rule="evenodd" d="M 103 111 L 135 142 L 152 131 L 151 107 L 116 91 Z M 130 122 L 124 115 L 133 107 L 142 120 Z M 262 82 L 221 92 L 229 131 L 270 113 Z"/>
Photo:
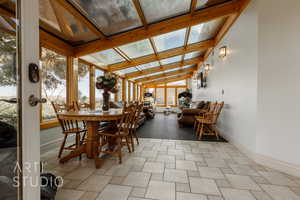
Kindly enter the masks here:
<path id="1" fill-rule="evenodd" d="M 154 119 L 147 120 L 138 129 L 137 134 L 141 138 L 197 140 L 193 127 L 179 127 L 177 114 L 164 115 L 157 113 Z M 217 140 L 214 136 L 203 137 L 203 141 L 226 142 L 223 138 Z"/>

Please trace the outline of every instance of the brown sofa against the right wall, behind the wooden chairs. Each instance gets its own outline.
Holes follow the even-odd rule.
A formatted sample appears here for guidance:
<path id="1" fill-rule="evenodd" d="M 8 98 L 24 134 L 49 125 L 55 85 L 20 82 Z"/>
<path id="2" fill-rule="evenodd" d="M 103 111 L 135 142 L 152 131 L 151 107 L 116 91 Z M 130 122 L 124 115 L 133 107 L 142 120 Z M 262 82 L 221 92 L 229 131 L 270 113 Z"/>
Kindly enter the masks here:
<path id="1" fill-rule="evenodd" d="M 209 109 L 210 102 L 200 101 L 194 103 L 192 108 L 183 108 L 177 116 L 177 121 L 180 126 L 193 126 L 195 116 Z"/>

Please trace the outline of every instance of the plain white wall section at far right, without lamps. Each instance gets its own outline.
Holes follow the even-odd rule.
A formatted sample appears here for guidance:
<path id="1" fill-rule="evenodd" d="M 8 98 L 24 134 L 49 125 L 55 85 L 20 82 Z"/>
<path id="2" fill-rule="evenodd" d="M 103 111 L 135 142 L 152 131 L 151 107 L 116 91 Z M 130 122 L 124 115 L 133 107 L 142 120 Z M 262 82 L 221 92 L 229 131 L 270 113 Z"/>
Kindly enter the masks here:
<path id="1" fill-rule="evenodd" d="M 261 0 L 257 152 L 300 165 L 300 1 Z"/>

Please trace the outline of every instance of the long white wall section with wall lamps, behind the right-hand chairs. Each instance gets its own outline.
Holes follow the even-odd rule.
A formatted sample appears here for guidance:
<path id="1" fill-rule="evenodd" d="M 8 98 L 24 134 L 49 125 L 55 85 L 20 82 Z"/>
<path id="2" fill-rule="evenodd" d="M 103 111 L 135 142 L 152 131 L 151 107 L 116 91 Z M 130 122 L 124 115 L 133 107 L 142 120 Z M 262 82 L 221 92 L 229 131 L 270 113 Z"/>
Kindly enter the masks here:
<path id="1" fill-rule="evenodd" d="M 196 89 L 194 100 L 224 101 L 219 129 L 230 142 L 255 151 L 256 89 L 257 89 L 257 3 L 253 0 L 220 46 L 227 45 L 229 56 L 218 57 L 215 50 L 214 68 L 209 72 L 208 88 Z M 211 61 L 211 59 L 208 59 Z M 224 95 L 222 95 L 224 89 Z"/>

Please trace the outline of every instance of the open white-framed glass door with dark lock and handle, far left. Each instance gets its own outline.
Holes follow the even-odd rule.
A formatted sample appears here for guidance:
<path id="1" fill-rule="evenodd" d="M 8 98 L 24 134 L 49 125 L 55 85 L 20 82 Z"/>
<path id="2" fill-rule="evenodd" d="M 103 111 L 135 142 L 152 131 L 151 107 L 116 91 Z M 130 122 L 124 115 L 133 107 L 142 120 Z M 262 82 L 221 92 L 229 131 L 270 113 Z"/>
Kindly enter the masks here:
<path id="1" fill-rule="evenodd" d="M 37 200 L 38 0 L 1 1 L 0 10 L 0 199 Z"/>

